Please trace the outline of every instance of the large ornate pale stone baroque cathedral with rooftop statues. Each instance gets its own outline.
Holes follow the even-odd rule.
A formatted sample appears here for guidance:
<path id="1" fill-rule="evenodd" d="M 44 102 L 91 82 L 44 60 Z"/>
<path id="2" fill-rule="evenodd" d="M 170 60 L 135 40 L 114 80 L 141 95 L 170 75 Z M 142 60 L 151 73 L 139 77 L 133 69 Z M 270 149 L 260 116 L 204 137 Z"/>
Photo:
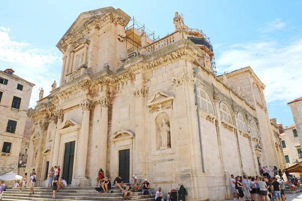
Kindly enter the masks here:
<path id="1" fill-rule="evenodd" d="M 135 174 L 165 193 L 182 182 L 189 200 L 222 200 L 230 174 L 284 167 L 251 67 L 216 76 L 211 44 L 178 13 L 175 31 L 156 41 L 129 21 L 112 7 L 81 13 L 56 45 L 60 86 L 28 113 L 26 172 L 36 169 L 37 185 L 60 165 L 68 184 L 94 186 L 103 168 L 111 181 Z"/>

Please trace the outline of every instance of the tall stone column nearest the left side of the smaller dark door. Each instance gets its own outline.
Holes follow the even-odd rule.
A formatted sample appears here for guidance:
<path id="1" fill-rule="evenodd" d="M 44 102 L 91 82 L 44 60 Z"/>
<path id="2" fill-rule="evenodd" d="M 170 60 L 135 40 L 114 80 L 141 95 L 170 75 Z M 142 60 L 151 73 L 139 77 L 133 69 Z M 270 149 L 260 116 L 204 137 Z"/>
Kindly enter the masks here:
<path id="1" fill-rule="evenodd" d="M 106 163 L 107 163 L 107 140 L 108 140 L 108 110 L 112 103 L 112 99 L 107 96 L 103 96 L 99 100 L 101 106 L 101 121 L 100 121 L 100 135 L 98 141 L 99 149 L 99 165 L 97 168 L 103 168 L 106 174 Z"/>

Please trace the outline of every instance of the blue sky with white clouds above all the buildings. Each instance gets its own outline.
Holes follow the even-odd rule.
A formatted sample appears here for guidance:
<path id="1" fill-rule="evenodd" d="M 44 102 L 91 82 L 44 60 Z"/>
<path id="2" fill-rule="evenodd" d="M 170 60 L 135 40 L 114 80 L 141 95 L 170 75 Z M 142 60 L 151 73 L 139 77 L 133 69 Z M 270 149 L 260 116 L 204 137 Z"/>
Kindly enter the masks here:
<path id="1" fill-rule="evenodd" d="M 175 12 L 213 44 L 218 74 L 251 66 L 266 85 L 270 118 L 293 123 L 286 103 L 302 96 L 302 1 L 6 1 L 0 8 L 0 66 L 36 84 L 44 95 L 60 79 L 55 45 L 81 12 L 112 6 L 160 37 L 174 30 Z"/>

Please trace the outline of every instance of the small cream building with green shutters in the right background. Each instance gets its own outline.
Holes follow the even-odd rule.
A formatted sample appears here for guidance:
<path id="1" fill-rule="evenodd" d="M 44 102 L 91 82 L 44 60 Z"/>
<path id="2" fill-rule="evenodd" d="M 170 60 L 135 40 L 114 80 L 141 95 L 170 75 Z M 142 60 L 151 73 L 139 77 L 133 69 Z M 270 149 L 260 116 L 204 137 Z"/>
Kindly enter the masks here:
<path id="1" fill-rule="evenodd" d="M 302 161 L 301 145 L 295 124 L 285 127 L 284 133 L 280 136 L 286 167 L 296 164 L 296 161 Z"/>

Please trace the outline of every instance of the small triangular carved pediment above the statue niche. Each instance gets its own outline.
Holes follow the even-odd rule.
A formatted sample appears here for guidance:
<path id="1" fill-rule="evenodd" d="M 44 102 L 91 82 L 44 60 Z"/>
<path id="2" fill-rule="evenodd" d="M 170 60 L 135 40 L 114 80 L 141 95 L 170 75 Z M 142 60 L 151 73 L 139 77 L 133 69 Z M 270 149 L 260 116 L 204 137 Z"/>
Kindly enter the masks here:
<path id="1" fill-rule="evenodd" d="M 147 107 L 150 112 L 160 109 L 167 109 L 173 107 L 173 100 L 175 97 L 163 91 L 156 91 L 153 96 L 148 100 Z"/>

